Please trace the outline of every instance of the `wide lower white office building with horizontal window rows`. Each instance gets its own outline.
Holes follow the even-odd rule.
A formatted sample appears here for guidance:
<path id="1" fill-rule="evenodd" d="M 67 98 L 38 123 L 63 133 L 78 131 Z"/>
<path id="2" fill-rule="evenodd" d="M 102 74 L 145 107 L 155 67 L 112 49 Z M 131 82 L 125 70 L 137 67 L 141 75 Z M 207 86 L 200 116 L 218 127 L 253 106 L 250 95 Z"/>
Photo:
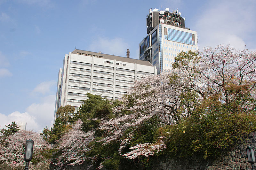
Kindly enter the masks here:
<path id="1" fill-rule="evenodd" d="M 54 122 L 60 106 L 77 109 L 86 93 L 120 98 L 131 83 L 150 74 L 156 74 L 156 67 L 148 61 L 77 49 L 69 52 L 59 70 Z"/>

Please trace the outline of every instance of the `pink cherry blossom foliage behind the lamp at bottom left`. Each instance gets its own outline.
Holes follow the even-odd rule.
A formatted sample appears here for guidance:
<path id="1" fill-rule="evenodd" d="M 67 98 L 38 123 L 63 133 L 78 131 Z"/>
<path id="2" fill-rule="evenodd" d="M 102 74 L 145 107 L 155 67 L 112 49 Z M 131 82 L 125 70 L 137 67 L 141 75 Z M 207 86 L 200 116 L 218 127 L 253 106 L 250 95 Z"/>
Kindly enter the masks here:
<path id="1" fill-rule="evenodd" d="M 50 146 L 43 137 L 33 131 L 20 130 L 14 135 L 0 138 L 0 169 L 20 169 L 25 166 L 24 152 L 26 140 L 34 140 L 33 158 L 29 169 L 47 169 L 50 160 L 45 157 Z"/>

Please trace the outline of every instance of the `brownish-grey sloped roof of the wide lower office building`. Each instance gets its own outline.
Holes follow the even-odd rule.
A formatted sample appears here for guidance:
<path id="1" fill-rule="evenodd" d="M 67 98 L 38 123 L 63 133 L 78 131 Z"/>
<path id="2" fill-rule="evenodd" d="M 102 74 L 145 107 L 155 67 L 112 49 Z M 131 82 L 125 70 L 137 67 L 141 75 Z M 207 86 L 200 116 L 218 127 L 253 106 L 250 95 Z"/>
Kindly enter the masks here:
<path id="1" fill-rule="evenodd" d="M 116 59 L 116 61 L 122 61 L 122 62 L 127 62 L 127 63 L 137 63 L 137 64 L 141 64 L 141 65 L 146 65 L 146 66 L 152 66 L 148 61 L 138 60 L 138 59 L 134 59 L 134 58 L 114 56 L 114 55 L 109 55 L 109 54 L 103 54 L 103 53 L 99 53 L 99 52 L 92 52 L 92 51 L 85 51 L 85 50 L 75 49 L 71 53 L 76 54 L 77 52 L 80 52 L 81 54 L 85 53 L 87 55 L 92 54 L 92 55 L 97 55 L 97 56 L 103 56 L 103 58 L 105 58 L 105 59 L 111 59 L 111 60 Z"/>

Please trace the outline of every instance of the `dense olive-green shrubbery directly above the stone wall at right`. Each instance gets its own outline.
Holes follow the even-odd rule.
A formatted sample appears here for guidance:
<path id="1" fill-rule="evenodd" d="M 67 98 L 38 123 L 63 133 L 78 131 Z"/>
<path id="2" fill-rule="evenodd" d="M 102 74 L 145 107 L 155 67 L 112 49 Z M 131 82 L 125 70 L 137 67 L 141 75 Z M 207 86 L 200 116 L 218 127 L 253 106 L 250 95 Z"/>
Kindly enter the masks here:
<path id="1" fill-rule="evenodd" d="M 203 155 L 216 158 L 221 151 L 256 130 L 256 117 L 229 112 L 224 104 L 205 101 L 191 118 L 179 125 L 166 126 L 168 151 L 173 156 Z"/>

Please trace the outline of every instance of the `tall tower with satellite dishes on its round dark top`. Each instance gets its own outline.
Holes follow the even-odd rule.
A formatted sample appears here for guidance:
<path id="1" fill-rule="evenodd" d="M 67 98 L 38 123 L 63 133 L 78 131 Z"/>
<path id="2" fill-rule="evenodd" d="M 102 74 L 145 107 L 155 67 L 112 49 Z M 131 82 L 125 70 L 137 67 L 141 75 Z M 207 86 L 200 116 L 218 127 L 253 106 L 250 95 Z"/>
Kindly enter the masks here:
<path id="1" fill-rule="evenodd" d="M 157 74 L 171 69 L 177 53 L 198 50 L 197 32 L 185 27 L 177 10 L 149 10 L 147 36 L 139 44 L 139 59 L 156 66 Z"/>

